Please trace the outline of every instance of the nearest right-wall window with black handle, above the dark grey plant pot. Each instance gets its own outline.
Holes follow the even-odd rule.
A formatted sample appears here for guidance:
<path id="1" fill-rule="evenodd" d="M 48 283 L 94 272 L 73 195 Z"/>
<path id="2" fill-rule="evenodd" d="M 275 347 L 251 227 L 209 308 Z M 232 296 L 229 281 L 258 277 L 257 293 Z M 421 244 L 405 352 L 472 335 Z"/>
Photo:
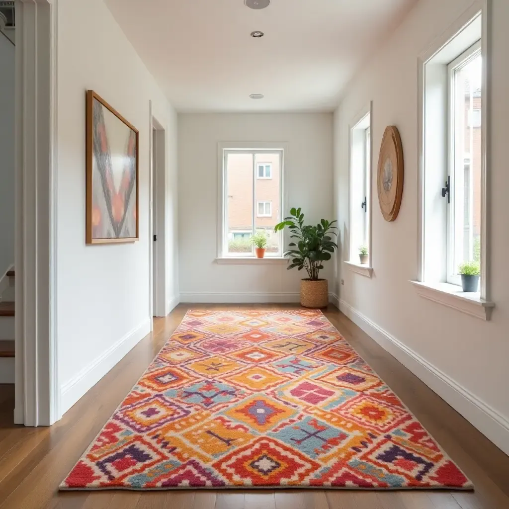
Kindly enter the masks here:
<path id="1" fill-rule="evenodd" d="M 460 285 L 458 266 L 480 262 L 481 101 L 480 44 L 447 66 L 449 82 L 447 282 Z M 473 120 L 473 122 L 472 122 Z"/>

